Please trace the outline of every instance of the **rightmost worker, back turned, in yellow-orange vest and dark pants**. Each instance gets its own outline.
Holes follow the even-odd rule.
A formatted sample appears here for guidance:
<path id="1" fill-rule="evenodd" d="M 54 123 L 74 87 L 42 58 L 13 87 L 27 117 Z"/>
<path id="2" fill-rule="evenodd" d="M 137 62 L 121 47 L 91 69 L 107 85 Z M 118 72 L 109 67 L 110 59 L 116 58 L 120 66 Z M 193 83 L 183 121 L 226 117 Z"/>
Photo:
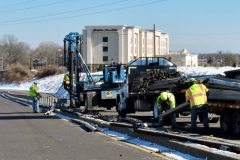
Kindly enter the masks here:
<path id="1" fill-rule="evenodd" d="M 190 102 L 191 130 L 193 132 L 196 131 L 197 116 L 201 114 L 205 128 L 204 134 L 210 134 L 207 104 L 208 88 L 203 84 L 198 84 L 195 78 L 189 80 L 189 86 L 190 87 L 186 90 L 185 97 L 186 101 Z"/>

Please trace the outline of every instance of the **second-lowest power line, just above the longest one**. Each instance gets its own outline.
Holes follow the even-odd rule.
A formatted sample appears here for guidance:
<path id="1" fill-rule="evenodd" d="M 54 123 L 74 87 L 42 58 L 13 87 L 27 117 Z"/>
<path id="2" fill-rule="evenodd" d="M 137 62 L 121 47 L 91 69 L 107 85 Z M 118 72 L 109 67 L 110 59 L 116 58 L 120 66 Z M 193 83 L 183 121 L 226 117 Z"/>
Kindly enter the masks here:
<path id="1" fill-rule="evenodd" d="M 87 10 L 87 9 L 93 9 L 93 8 L 98 8 L 98 7 L 102 7 L 102 6 L 112 5 L 112 4 L 116 4 L 116 3 L 120 3 L 120 2 L 124 2 L 124 1 L 128 1 L 128 0 L 121 0 L 121 1 L 117 1 L 117 2 L 97 5 L 97 6 L 93 6 L 93 7 L 81 8 L 81 9 L 77 9 L 77 10 L 73 10 L 73 11 L 61 12 L 61 13 L 56 13 L 56 14 L 49 14 L 49 15 L 45 15 L 45 16 L 38 16 L 38 17 L 32 17 L 32 18 L 4 21 L 4 22 L 0 22 L 0 23 L 9 23 L 9 22 L 17 22 L 17 21 L 36 19 L 36 18 L 44 18 L 44 17 L 56 16 L 56 15 L 61 15 L 61 14 L 66 14 L 66 13 L 72 13 L 72 12 L 77 12 L 77 11 L 82 11 L 82 10 Z"/>

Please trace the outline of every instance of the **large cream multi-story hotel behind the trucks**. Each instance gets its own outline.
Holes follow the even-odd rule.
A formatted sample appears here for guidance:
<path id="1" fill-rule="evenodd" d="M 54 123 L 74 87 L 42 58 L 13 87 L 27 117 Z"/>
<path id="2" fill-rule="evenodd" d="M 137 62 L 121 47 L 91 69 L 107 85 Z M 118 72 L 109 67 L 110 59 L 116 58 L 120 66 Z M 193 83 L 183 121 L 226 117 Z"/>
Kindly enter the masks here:
<path id="1" fill-rule="evenodd" d="M 85 26 L 82 33 L 87 64 L 127 64 L 134 58 L 169 53 L 169 36 L 160 30 L 154 33 L 153 29 L 141 30 L 138 26 Z"/>

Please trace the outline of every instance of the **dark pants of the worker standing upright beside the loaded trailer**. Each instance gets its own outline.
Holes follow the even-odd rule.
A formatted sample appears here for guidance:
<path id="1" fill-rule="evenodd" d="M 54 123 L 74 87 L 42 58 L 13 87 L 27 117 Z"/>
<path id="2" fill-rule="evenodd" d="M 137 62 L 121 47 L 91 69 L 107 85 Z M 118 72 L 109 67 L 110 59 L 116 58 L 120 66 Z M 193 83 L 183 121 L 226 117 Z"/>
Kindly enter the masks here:
<path id="1" fill-rule="evenodd" d="M 192 108 L 191 108 L 191 129 L 196 129 L 196 127 L 197 127 L 196 120 L 197 120 L 198 114 L 202 114 L 204 128 L 206 130 L 208 130 L 209 124 L 208 124 L 208 105 L 207 104 L 192 106 Z"/>

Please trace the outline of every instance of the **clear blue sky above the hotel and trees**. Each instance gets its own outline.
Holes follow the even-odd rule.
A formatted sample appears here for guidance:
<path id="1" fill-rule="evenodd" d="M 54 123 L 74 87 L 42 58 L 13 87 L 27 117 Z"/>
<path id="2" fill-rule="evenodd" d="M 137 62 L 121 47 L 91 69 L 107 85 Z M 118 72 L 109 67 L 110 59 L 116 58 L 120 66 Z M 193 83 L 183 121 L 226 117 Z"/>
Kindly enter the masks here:
<path id="1" fill-rule="evenodd" d="M 87 25 L 127 25 L 169 33 L 170 50 L 240 53 L 240 0 L 0 0 L 0 36 L 32 49 L 63 45 Z"/>

